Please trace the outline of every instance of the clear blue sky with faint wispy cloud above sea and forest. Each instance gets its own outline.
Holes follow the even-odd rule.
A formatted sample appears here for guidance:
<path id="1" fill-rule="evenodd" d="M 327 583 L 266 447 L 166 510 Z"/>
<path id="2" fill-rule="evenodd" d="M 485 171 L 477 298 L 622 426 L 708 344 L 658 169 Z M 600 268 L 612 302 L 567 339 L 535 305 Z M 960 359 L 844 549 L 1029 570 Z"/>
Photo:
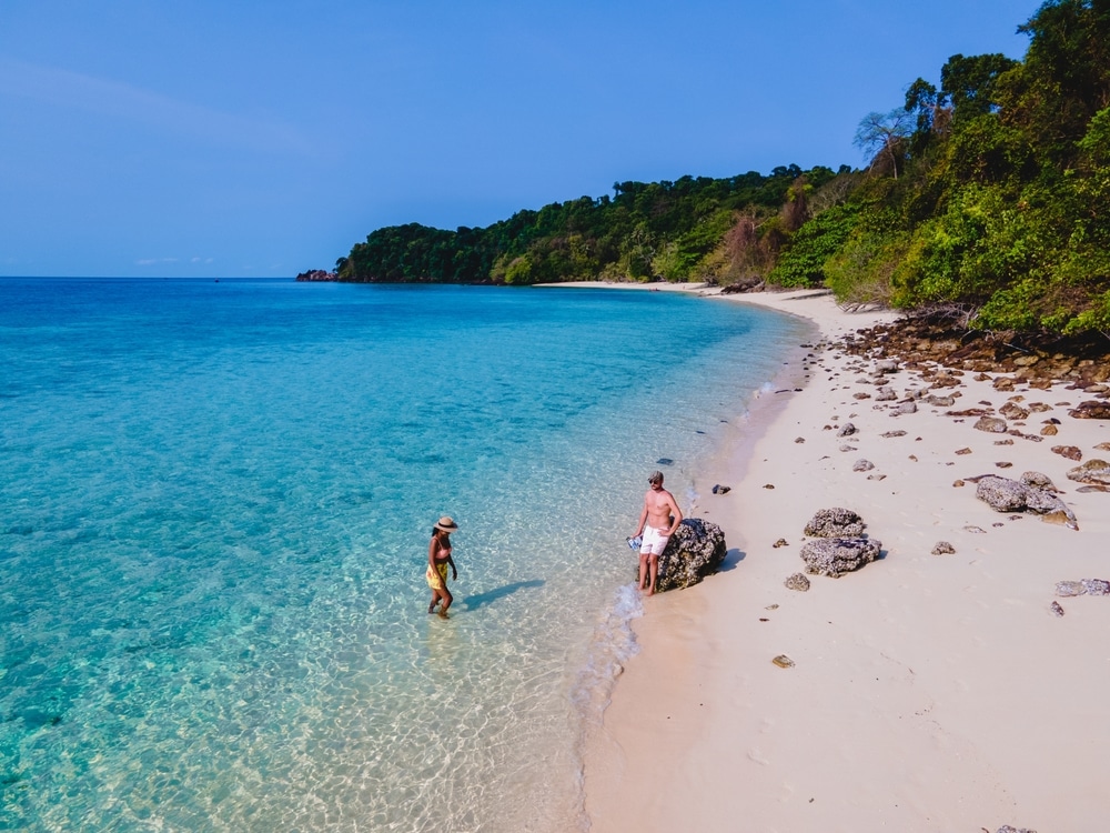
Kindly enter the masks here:
<path id="1" fill-rule="evenodd" d="M 382 225 L 860 165 L 1038 2 L 0 2 L 0 275 L 285 277 Z"/>

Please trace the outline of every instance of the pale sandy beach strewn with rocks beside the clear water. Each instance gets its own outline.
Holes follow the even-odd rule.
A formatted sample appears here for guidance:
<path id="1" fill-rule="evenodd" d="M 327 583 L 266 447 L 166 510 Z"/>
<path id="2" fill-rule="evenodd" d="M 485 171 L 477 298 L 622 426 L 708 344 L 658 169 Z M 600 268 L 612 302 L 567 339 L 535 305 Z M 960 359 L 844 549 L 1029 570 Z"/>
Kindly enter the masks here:
<path id="1" fill-rule="evenodd" d="M 825 340 L 892 318 L 847 314 L 813 293 L 736 301 L 809 318 Z M 585 750 L 592 832 L 1101 829 L 1110 596 L 1054 590 L 1110 579 L 1110 494 L 1077 491 L 1066 472 L 1078 463 L 1051 449 L 1110 459 L 1094 448 L 1110 441 L 1110 421 L 1068 416 L 1062 403 L 1090 399 L 1082 391 L 1001 392 L 970 372 L 929 393 L 960 392 L 956 409 L 1041 402 L 1051 410 L 1017 428 L 1037 434 L 1057 418 L 1059 434 L 986 433 L 924 401 L 894 415 L 895 403 L 875 400 L 879 388 L 857 381 L 872 362 L 808 352 L 789 369 L 809 375 L 804 390 L 760 409 L 754 445 L 702 473 L 695 514 L 724 528 L 727 569 L 646 601 L 643 650 Z M 899 399 L 929 387 L 907 370 L 889 379 Z M 858 433 L 838 438 L 848 421 Z M 852 471 L 860 459 L 874 469 Z M 995 512 L 973 483 L 953 485 L 1026 471 L 1063 491 L 1079 531 Z M 731 491 L 713 495 L 714 483 Z M 803 570 L 803 528 L 831 506 L 862 515 L 884 558 L 840 579 L 810 576 L 805 593 L 786 589 Z M 773 546 L 779 539 L 788 545 Z M 939 541 L 956 552 L 931 554 Z M 796 665 L 776 666 L 779 654 Z"/>

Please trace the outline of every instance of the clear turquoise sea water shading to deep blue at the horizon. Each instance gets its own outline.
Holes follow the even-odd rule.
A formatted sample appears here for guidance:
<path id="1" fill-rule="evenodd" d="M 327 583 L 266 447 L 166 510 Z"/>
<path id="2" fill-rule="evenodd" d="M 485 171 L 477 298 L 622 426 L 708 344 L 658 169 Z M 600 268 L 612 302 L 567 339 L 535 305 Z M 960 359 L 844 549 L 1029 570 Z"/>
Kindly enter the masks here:
<path id="1" fill-rule="evenodd" d="M 807 334 L 666 292 L 0 279 L 0 830 L 583 830 L 646 475 L 696 504 Z"/>

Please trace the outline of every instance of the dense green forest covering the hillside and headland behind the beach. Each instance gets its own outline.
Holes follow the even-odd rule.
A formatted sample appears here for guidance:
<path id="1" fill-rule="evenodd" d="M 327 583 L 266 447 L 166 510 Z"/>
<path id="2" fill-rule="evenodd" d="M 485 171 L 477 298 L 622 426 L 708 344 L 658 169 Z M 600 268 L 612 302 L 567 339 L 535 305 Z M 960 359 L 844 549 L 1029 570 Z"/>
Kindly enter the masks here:
<path id="1" fill-rule="evenodd" d="M 827 287 L 968 327 L 1110 333 L 1110 0 L 1049 0 L 1022 60 L 956 54 L 860 120 L 861 170 L 618 182 L 484 229 L 379 229 L 339 280 Z"/>

